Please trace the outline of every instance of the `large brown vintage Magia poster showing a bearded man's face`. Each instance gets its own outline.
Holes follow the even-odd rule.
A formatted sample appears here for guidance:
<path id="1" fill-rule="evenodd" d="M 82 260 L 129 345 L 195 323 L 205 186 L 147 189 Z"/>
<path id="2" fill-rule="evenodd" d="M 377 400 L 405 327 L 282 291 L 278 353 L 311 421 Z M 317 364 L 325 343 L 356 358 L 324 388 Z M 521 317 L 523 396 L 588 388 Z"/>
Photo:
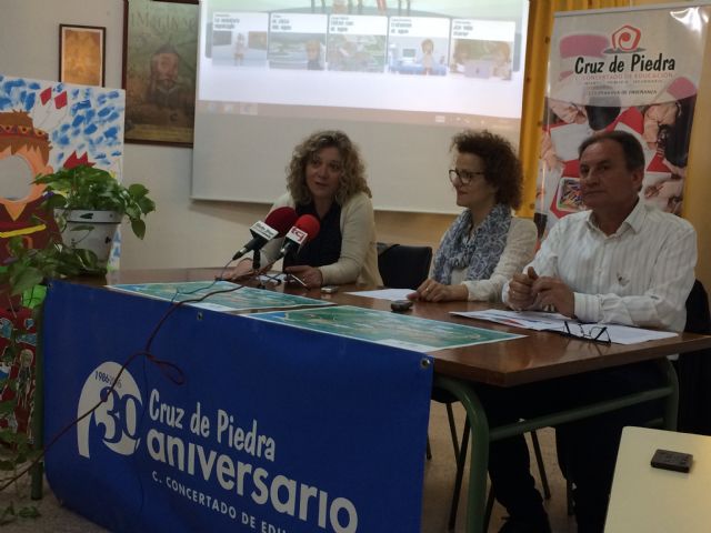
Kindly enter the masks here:
<path id="1" fill-rule="evenodd" d="M 192 145 L 198 10 L 193 2 L 124 0 L 126 142 Z"/>

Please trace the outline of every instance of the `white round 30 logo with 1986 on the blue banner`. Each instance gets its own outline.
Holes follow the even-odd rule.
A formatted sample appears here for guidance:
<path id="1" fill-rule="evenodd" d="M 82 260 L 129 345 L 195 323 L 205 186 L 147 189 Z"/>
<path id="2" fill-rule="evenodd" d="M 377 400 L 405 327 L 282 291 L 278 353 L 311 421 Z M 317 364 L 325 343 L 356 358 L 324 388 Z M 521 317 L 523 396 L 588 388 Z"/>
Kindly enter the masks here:
<path id="1" fill-rule="evenodd" d="M 138 413 L 143 400 L 136 380 L 126 369 L 111 389 L 120 370 L 121 365 L 112 361 L 101 363 L 81 389 L 77 416 L 97 408 L 77 424 L 77 447 L 83 457 L 90 456 L 92 432 L 99 432 L 103 444 L 121 455 L 131 455 L 138 449 Z"/>

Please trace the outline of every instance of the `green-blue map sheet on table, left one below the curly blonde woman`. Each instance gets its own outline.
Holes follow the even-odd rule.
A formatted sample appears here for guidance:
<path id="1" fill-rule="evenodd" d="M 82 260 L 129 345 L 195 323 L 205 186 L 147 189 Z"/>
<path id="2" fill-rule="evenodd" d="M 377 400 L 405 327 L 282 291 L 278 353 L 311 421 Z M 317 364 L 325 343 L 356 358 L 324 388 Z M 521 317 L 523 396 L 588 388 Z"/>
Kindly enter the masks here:
<path id="1" fill-rule="evenodd" d="M 268 289 L 253 289 L 229 281 L 187 281 L 181 283 L 138 283 L 107 285 L 117 291 L 144 296 L 184 302 L 212 311 L 243 311 L 247 309 L 297 308 L 303 305 L 332 305 L 330 302 L 312 298 L 284 294 Z M 200 300 L 204 296 L 204 300 Z"/>

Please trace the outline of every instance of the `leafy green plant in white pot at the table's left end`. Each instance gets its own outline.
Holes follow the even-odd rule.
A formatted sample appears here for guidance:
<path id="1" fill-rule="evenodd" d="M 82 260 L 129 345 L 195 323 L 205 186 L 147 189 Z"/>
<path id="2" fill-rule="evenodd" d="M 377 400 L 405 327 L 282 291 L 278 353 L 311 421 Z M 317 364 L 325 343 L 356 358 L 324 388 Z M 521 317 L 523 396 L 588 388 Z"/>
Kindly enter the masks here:
<path id="1" fill-rule="evenodd" d="M 106 265 L 116 229 L 126 217 L 139 239 L 146 235 L 143 217 L 156 210 L 148 189 L 123 185 L 110 172 L 77 164 L 34 180 L 47 187 L 47 209 L 53 209 L 66 245 L 92 250 Z"/>

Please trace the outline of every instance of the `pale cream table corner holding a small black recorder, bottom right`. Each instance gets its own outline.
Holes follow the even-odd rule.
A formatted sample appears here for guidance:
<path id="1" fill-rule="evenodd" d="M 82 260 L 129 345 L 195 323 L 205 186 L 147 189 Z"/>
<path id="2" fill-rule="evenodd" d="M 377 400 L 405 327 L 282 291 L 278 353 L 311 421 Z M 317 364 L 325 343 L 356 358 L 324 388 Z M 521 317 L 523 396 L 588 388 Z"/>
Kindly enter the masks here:
<path id="1" fill-rule="evenodd" d="M 657 449 L 691 453 L 689 473 L 653 469 Z M 711 436 L 624 428 L 614 469 L 607 533 L 695 533 L 711 524 Z"/>

